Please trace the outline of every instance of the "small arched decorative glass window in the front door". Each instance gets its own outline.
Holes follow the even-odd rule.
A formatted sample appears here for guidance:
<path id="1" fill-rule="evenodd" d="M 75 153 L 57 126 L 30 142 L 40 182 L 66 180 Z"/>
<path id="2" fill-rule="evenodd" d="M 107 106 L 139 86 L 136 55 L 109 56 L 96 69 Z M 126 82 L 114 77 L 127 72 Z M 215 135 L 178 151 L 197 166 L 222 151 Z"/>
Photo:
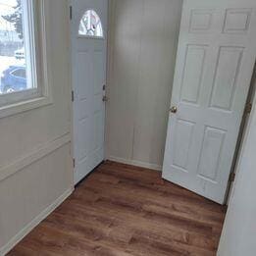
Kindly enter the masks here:
<path id="1" fill-rule="evenodd" d="M 82 16 L 78 35 L 103 37 L 103 28 L 99 16 L 93 10 L 88 10 Z"/>

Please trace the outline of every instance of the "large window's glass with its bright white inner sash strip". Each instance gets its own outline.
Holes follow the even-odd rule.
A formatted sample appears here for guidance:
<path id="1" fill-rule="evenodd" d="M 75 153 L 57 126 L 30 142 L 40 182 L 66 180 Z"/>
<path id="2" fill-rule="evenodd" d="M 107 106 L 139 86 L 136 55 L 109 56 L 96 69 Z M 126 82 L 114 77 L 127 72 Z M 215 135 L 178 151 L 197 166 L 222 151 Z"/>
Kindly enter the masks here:
<path id="1" fill-rule="evenodd" d="M 36 88 L 28 0 L 0 0 L 0 94 Z M 34 57 L 34 56 L 33 56 Z"/>

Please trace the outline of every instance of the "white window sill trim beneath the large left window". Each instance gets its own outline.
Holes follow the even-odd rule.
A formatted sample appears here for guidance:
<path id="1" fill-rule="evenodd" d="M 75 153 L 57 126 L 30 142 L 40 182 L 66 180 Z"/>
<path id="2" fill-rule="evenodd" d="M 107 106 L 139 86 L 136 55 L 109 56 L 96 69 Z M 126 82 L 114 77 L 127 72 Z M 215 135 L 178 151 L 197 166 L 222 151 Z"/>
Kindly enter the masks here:
<path id="1" fill-rule="evenodd" d="M 52 103 L 52 98 L 50 96 L 42 96 L 3 106 L 0 107 L 0 119 L 14 116 L 32 109 L 51 105 Z"/>

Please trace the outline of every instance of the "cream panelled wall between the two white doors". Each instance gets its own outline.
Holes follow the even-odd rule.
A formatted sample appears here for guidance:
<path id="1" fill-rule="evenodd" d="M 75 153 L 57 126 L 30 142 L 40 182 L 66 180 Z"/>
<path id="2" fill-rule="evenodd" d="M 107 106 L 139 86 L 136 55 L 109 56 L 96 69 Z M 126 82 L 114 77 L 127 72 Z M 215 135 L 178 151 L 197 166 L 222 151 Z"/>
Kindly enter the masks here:
<path id="1" fill-rule="evenodd" d="M 180 0 L 113 0 L 107 158 L 161 169 Z"/>

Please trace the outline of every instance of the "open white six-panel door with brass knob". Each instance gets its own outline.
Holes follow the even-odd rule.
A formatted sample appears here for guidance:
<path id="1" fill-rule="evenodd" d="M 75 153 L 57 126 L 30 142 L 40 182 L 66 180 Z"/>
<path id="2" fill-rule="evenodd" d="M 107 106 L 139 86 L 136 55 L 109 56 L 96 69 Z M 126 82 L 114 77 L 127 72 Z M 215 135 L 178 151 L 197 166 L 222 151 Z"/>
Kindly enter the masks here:
<path id="1" fill-rule="evenodd" d="M 255 0 L 183 2 L 163 178 L 219 203 L 255 62 L 255 10 Z"/>

